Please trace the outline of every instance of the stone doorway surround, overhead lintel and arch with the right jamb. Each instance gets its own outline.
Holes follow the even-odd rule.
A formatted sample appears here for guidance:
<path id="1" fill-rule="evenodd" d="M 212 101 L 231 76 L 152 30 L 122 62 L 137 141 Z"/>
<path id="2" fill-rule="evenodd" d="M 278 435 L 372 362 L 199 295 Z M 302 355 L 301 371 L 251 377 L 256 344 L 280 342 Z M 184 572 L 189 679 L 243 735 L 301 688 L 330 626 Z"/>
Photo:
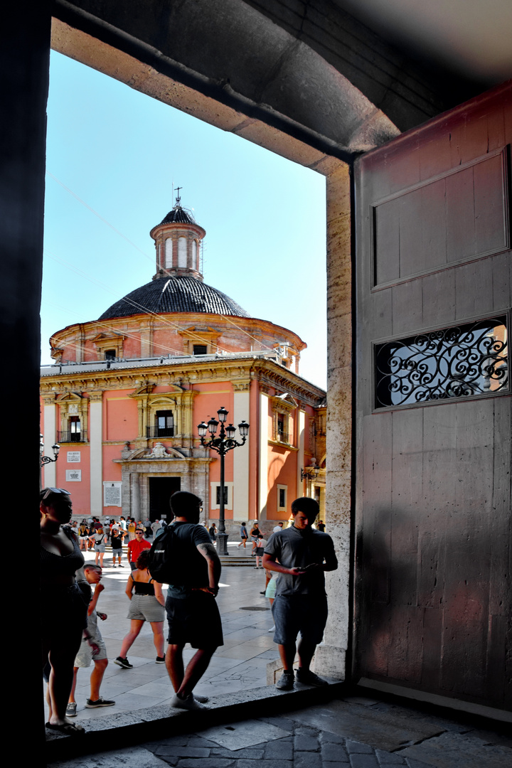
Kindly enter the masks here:
<path id="1" fill-rule="evenodd" d="M 351 191 L 345 161 L 395 136 L 398 130 L 315 51 L 245 3 L 204 2 L 203 17 L 197 15 L 196 5 L 183 3 L 180 15 L 171 10 L 165 21 L 159 18 L 157 22 L 148 12 L 146 25 L 140 29 L 124 12 L 119 16 L 112 9 L 109 18 L 100 19 L 88 13 L 84 0 L 65 8 L 58 4 L 52 47 L 130 88 L 326 177 L 331 338 L 327 446 L 331 458 L 325 517 L 339 551 L 339 571 L 329 579 L 331 613 L 318 654 L 325 674 L 343 678 L 348 647 L 352 456 Z M 191 8 L 196 8 L 196 15 Z M 110 5 L 105 12 L 111 13 Z M 231 45 L 223 30 L 226 12 L 231 14 Z M 238 21 L 236 27 L 233 18 Z M 197 58 L 194 51 L 200 51 Z M 258 58 L 257 77 L 249 65 L 250 51 Z M 236 84 L 223 81 L 223 68 L 233 71 L 237 62 Z M 126 473 L 124 465 L 123 475 Z M 131 476 L 131 494 L 141 498 L 137 477 L 144 472 Z M 142 506 L 140 502 L 144 512 Z"/>

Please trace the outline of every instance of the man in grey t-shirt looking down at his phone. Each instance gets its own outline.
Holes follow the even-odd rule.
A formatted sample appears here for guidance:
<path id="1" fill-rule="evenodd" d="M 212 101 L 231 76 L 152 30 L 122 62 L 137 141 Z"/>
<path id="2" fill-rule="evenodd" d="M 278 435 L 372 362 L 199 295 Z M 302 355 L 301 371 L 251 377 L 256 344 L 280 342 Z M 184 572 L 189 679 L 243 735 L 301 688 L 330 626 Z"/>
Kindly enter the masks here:
<path id="1" fill-rule="evenodd" d="M 263 568 L 277 571 L 276 599 L 272 612 L 276 624 L 274 642 L 279 645 L 284 671 L 276 683 L 279 690 L 294 684 L 293 661 L 300 633 L 297 681 L 326 685 L 326 680 L 309 669 L 316 646 L 322 641 L 327 621 L 325 571 L 338 568 L 332 538 L 312 528 L 319 514 L 314 498 L 304 496 L 292 502 L 293 525 L 276 531 L 263 554 Z"/>

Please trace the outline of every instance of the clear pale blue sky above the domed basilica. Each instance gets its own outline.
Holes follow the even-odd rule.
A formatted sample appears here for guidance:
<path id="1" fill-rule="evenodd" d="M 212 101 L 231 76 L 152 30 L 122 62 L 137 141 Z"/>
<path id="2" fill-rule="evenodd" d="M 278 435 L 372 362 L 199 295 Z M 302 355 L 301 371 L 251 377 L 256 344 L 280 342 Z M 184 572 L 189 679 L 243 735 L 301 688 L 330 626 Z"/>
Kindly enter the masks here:
<path id="1" fill-rule="evenodd" d="M 151 280 L 174 184 L 206 230 L 205 282 L 298 333 L 325 387 L 324 177 L 55 52 L 47 171 L 43 364 L 51 333 Z"/>

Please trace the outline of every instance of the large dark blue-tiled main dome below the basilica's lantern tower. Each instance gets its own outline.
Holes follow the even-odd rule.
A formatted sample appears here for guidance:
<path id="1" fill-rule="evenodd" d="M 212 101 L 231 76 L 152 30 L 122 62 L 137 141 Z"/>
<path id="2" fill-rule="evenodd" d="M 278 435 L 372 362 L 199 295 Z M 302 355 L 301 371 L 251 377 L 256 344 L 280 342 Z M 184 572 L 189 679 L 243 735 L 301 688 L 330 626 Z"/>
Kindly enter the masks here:
<path id="1" fill-rule="evenodd" d="M 100 320 L 166 312 L 206 312 L 249 317 L 233 299 L 195 277 L 159 277 L 112 304 Z"/>

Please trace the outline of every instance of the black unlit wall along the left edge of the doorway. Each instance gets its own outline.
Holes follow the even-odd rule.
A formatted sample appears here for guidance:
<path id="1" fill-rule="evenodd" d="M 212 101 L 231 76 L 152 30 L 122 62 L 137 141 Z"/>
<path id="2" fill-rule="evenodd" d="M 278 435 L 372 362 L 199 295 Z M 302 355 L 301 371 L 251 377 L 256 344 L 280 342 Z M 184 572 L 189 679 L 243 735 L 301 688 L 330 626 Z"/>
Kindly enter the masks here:
<path id="1" fill-rule="evenodd" d="M 23 562 L 19 548 L 5 548 L 16 556 L 11 572 L 21 604 L 21 621 L 14 617 L 8 641 L 28 653 L 10 654 L 15 660 L 16 684 L 11 687 L 7 712 L 15 713 L 15 733 L 20 713 L 31 733 L 43 727 L 41 664 L 38 634 L 37 498 L 39 491 L 39 360 L 43 212 L 45 198 L 46 101 L 50 53 L 51 9 L 46 0 L 9 4 L 2 10 L 2 174 L 0 174 L 0 243 L 2 243 L 2 478 L 5 536 L 16 541 L 23 533 Z M 14 538 L 15 537 L 15 538 Z M 18 539 L 19 541 L 19 539 Z M 24 581 L 26 583 L 24 583 Z M 34 583 L 35 581 L 35 583 Z M 31 608 L 25 611 L 25 607 Z M 19 663 L 18 663 L 19 662 Z M 26 707 L 30 701 L 31 706 Z M 14 724 L 14 723 L 13 723 Z M 37 762 L 37 759 L 36 759 Z"/>

